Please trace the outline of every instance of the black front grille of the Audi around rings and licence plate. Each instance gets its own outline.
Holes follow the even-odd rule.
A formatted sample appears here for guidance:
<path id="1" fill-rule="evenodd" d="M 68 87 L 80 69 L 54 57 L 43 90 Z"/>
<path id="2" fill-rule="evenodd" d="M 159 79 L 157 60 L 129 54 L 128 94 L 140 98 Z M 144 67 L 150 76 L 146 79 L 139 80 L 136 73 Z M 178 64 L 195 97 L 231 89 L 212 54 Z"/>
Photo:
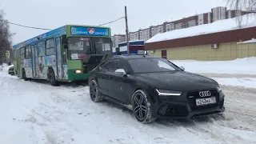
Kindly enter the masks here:
<path id="1" fill-rule="evenodd" d="M 219 106 L 218 90 L 209 90 L 210 94 L 211 94 L 210 97 L 215 97 L 216 98 L 216 103 L 205 105 L 205 106 L 197 106 L 196 105 L 196 99 L 202 98 L 199 95 L 200 91 L 207 91 L 207 90 L 190 91 L 190 92 L 188 92 L 186 94 L 186 96 L 188 98 L 188 103 L 189 103 L 189 106 L 190 106 L 191 110 L 206 110 L 206 109 L 210 109 L 210 108 L 214 108 L 214 107 L 218 107 Z M 210 97 L 204 97 L 204 98 L 210 98 Z"/>

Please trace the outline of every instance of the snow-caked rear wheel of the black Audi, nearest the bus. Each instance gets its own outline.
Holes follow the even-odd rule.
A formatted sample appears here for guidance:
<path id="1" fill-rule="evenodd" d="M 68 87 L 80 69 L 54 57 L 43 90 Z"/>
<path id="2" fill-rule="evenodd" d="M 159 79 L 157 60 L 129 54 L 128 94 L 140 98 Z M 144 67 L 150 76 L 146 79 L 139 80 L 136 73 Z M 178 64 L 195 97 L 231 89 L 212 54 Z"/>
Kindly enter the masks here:
<path id="1" fill-rule="evenodd" d="M 94 79 L 90 81 L 89 90 L 90 90 L 90 99 L 93 102 L 102 102 L 103 94 L 98 89 L 98 84 Z"/>

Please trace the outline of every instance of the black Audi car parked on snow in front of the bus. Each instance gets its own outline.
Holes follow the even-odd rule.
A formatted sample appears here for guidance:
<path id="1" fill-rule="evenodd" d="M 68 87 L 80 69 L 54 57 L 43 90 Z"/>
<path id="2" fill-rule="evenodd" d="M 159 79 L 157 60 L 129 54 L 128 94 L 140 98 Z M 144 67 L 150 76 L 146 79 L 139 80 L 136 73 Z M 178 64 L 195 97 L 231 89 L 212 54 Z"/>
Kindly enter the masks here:
<path id="1" fill-rule="evenodd" d="M 218 82 L 184 71 L 165 58 L 116 56 L 90 71 L 90 98 L 108 99 L 143 123 L 156 118 L 194 118 L 225 111 Z"/>

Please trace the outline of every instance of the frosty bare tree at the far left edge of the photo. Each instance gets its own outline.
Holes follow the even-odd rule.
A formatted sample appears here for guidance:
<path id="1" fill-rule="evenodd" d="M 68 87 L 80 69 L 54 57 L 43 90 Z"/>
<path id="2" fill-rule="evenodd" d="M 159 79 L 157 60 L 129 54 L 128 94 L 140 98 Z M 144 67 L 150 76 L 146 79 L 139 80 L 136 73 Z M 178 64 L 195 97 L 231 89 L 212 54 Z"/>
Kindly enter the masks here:
<path id="1" fill-rule="evenodd" d="M 4 19 L 4 12 L 0 10 L 0 65 L 6 62 L 6 50 L 10 50 L 10 26 Z"/>

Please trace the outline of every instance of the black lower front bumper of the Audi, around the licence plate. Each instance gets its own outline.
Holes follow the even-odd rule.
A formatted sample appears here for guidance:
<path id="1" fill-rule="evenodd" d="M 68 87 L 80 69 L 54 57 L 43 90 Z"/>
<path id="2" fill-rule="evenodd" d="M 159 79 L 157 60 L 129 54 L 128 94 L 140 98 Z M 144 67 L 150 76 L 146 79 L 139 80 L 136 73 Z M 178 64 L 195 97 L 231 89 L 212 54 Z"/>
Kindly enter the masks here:
<path id="1" fill-rule="evenodd" d="M 155 118 L 195 118 L 225 111 L 224 98 L 221 92 L 216 97 L 216 103 L 196 106 L 196 98 L 188 98 L 188 94 L 172 98 L 158 98 L 158 102 L 151 104 L 152 115 Z"/>

